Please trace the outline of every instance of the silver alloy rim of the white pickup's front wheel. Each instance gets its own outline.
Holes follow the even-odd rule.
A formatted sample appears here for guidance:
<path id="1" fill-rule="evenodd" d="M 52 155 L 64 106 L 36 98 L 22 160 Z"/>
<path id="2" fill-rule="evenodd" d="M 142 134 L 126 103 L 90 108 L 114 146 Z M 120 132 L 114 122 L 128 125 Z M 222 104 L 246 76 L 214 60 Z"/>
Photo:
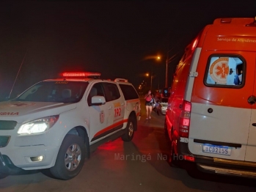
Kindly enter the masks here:
<path id="1" fill-rule="evenodd" d="M 78 144 L 71 144 L 65 153 L 65 167 L 68 171 L 75 170 L 81 161 L 81 148 Z"/>

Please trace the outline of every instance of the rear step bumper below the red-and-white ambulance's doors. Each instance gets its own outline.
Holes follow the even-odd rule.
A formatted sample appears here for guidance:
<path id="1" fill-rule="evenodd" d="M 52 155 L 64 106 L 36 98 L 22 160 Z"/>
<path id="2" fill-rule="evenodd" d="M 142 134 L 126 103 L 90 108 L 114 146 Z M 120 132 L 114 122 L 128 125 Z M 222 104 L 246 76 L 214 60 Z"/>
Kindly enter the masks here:
<path id="1" fill-rule="evenodd" d="M 206 166 L 202 164 L 197 164 L 197 168 L 200 169 L 200 171 L 211 172 L 215 174 L 226 174 L 231 176 L 250 177 L 250 178 L 256 179 L 256 171 L 225 169 L 225 168 L 220 168 L 215 166 Z"/>

